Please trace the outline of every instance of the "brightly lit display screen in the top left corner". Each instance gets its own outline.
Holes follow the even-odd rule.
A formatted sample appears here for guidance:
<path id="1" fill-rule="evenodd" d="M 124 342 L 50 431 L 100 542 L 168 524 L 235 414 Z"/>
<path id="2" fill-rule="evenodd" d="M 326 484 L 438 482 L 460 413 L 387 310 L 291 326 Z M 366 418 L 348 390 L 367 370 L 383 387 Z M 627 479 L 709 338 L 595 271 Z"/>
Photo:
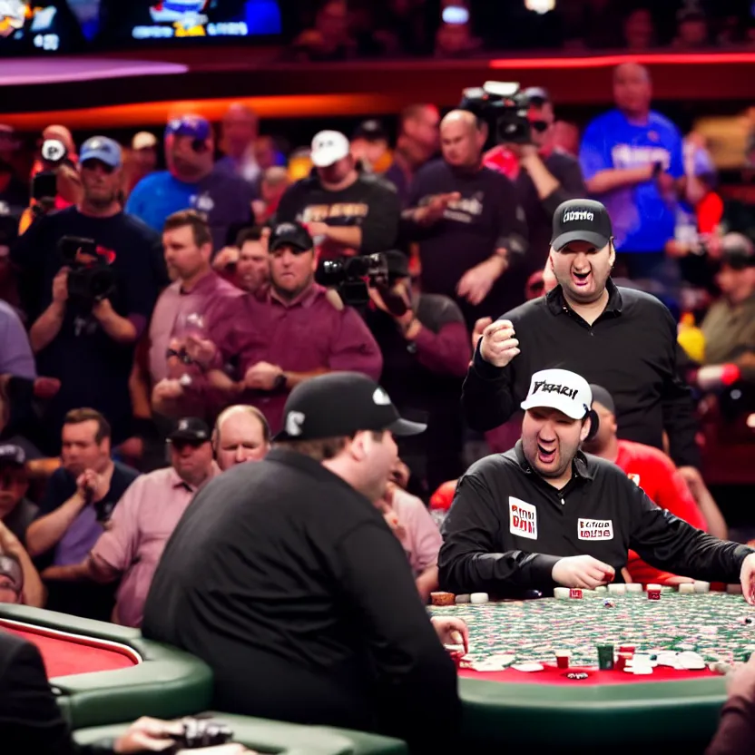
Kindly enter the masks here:
<path id="1" fill-rule="evenodd" d="M 279 0 L 0 0 L 0 57 L 270 40 Z"/>

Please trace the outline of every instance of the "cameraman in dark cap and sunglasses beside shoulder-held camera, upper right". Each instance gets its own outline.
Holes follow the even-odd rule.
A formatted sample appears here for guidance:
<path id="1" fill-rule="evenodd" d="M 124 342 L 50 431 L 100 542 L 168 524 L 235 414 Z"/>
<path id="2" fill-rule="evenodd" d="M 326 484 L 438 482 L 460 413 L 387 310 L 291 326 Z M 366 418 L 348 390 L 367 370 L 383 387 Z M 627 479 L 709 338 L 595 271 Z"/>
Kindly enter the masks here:
<path id="1" fill-rule="evenodd" d="M 579 162 L 554 146 L 554 106 L 548 93 L 530 87 L 525 97 L 531 143 L 499 144 L 485 153 L 483 164 L 515 183 L 529 231 L 530 250 L 522 269 L 526 277 L 534 270 L 543 270 L 548 259 L 556 207 L 585 196 L 587 190 Z"/>

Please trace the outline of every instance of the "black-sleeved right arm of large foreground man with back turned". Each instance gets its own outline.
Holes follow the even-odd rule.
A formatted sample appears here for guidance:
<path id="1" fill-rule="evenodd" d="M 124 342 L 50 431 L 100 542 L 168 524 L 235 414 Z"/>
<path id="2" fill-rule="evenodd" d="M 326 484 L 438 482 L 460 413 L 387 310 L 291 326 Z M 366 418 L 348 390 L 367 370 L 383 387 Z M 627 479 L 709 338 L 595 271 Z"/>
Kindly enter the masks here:
<path id="1" fill-rule="evenodd" d="M 422 751 L 446 751 L 461 719 L 456 669 L 419 600 L 403 547 L 382 521 L 361 525 L 337 545 L 335 571 L 367 645 L 375 707 L 386 711 L 389 733 L 410 747 L 421 739 Z"/>

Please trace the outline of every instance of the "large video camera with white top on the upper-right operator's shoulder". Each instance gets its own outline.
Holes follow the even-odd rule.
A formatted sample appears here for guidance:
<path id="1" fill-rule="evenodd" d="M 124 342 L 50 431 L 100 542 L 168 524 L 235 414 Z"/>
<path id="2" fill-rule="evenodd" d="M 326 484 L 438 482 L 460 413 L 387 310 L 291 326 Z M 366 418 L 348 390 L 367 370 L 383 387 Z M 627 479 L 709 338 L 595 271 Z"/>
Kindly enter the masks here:
<path id="1" fill-rule="evenodd" d="M 487 123 L 496 144 L 530 144 L 530 101 L 518 82 L 485 82 L 462 93 L 461 110 Z"/>

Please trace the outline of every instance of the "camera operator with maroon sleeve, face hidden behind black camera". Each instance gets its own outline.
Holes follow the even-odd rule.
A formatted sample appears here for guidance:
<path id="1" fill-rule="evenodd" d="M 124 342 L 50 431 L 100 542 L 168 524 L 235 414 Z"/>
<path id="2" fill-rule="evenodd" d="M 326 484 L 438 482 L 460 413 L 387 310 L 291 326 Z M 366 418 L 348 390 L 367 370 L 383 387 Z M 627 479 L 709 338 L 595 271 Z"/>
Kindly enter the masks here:
<path id="1" fill-rule="evenodd" d="M 383 386 L 399 411 L 427 415 L 427 433 L 402 438 L 400 447 L 428 493 L 464 471 L 458 396 L 471 357 L 469 335 L 452 299 L 413 289 L 406 255 L 387 251 L 385 257 L 387 286 L 369 288 L 372 307 L 364 318 L 383 354 Z"/>

